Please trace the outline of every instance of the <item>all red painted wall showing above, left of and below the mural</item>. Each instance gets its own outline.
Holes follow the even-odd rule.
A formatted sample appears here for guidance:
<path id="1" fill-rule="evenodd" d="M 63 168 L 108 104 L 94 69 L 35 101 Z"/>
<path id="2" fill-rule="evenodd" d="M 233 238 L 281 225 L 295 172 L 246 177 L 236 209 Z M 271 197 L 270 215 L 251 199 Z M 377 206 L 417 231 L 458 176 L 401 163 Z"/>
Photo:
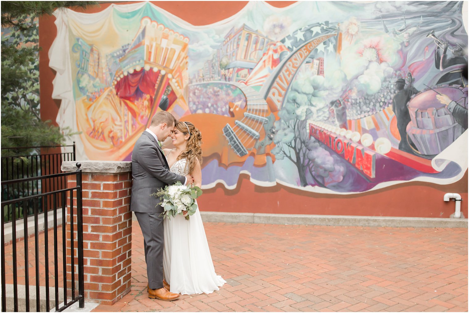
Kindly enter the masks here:
<path id="1" fill-rule="evenodd" d="M 247 4 L 247 1 L 151 2 L 194 25 L 218 22 L 239 12 Z M 295 1 L 267 2 L 275 7 L 286 7 Z M 101 3 L 86 12 L 99 12 L 109 5 Z M 57 34 L 54 21 L 53 16 L 39 19 L 39 45 L 42 47 L 39 52 L 39 82 L 41 118 L 55 123 L 60 101 L 52 99 L 55 73 L 48 66 L 49 48 Z M 220 212 L 449 217 L 454 212 L 454 202 L 443 201 L 447 192 L 461 194 L 461 211 L 467 217 L 468 171 L 461 180 L 450 185 L 408 182 L 353 195 L 316 194 L 280 185 L 260 187 L 252 184 L 248 176 L 241 175 L 236 189 L 226 190 L 219 184 L 204 190 L 199 203 L 203 211 Z"/>

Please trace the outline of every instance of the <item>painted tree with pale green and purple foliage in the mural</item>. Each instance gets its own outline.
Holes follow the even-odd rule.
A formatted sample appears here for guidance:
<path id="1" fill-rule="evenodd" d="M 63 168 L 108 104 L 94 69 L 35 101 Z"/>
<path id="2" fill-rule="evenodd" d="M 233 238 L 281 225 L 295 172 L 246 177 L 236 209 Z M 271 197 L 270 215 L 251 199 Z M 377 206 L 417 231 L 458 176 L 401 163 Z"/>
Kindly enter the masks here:
<path id="1" fill-rule="evenodd" d="M 272 153 L 277 159 L 285 157 L 298 169 L 301 186 L 316 184 L 326 187 L 328 183 L 340 182 L 345 166 L 336 156 L 309 137 L 308 119 L 325 120 L 329 112 L 323 76 L 310 76 L 293 82 L 275 122 L 276 147 Z"/>

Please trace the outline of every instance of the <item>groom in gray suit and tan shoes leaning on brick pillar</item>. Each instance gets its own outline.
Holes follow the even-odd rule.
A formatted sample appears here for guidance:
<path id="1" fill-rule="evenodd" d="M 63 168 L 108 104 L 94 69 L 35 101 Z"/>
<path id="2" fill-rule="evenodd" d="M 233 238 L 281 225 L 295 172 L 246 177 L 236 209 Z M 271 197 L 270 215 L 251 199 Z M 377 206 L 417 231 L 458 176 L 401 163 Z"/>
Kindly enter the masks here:
<path id="1" fill-rule="evenodd" d="M 151 119 L 150 127 L 138 138 L 132 151 L 130 210 L 135 212 L 144 235 L 148 297 L 163 301 L 171 301 L 181 295 L 163 287 L 164 231 L 163 217 L 159 217 L 163 208 L 158 205 L 159 198 L 150 194 L 177 181 L 190 184 L 194 180 L 191 175 L 184 177 L 170 172 L 166 157 L 159 147 L 158 142 L 171 135 L 175 123 L 176 119 L 171 113 L 157 112 Z"/>

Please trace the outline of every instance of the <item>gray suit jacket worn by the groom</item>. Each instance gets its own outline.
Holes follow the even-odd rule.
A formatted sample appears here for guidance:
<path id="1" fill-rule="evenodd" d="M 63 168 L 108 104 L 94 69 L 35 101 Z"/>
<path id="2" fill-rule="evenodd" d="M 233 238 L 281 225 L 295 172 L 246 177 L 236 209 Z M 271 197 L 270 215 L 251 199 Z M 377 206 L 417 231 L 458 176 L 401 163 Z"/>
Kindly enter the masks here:
<path id="1" fill-rule="evenodd" d="M 150 194 L 159 188 L 177 181 L 184 183 L 185 177 L 169 171 L 166 157 L 155 138 L 144 131 L 132 151 L 132 195 L 130 210 L 143 213 L 161 213 L 160 200 Z"/>

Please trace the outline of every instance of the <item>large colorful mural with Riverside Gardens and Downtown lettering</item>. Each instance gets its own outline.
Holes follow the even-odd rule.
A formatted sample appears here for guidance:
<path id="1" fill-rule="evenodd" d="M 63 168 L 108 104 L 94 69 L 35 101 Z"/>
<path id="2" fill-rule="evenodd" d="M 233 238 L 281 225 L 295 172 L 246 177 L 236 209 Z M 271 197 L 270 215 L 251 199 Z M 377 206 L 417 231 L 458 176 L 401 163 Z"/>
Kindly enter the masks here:
<path id="1" fill-rule="evenodd" d="M 130 160 L 160 110 L 203 134 L 203 187 L 356 193 L 468 168 L 460 2 L 251 1 L 193 26 L 150 2 L 56 13 L 57 122 L 81 159 Z M 168 144 L 169 141 L 168 141 Z"/>

